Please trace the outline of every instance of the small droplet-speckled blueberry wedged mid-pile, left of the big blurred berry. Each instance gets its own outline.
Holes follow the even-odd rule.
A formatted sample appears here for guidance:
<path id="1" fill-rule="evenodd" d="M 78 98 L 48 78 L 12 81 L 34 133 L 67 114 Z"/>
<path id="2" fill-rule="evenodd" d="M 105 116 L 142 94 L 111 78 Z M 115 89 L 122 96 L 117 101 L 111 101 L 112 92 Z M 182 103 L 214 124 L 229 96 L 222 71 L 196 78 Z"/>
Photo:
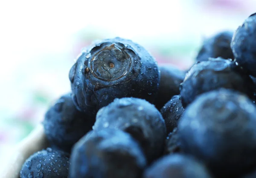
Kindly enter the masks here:
<path id="1" fill-rule="evenodd" d="M 166 124 L 166 132 L 172 132 L 177 127 L 177 122 L 183 117 L 185 109 L 180 100 L 180 95 L 175 95 L 160 110 Z"/>

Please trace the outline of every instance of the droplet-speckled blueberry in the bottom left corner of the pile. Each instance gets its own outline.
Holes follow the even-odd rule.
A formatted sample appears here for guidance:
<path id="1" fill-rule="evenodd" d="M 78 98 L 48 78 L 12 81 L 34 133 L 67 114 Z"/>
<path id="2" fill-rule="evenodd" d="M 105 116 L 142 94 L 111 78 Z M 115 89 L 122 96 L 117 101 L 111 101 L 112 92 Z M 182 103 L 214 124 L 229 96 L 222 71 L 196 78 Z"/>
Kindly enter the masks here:
<path id="1" fill-rule="evenodd" d="M 69 154 L 47 148 L 31 155 L 20 170 L 20 178 L 69 178 Z"/>

